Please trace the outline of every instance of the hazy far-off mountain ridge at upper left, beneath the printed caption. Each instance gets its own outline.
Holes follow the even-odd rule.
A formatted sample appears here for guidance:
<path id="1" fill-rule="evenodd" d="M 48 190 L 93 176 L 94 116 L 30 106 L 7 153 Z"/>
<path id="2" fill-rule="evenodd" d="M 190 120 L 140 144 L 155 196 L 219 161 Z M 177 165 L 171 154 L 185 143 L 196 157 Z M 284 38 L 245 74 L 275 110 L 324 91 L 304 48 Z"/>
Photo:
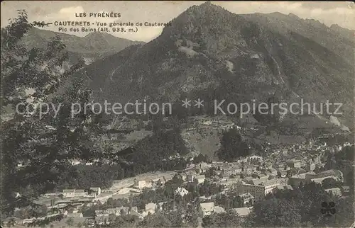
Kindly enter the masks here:
<path id="1" fill-rule="evenodd" d="M 87 64 L 113 55 L 116 52 L 124 50 L 130 45 L 143 44 L 144 42 L 132 41 L 123 38 L 117 38 L 108 33 L 89 33 L 84 38 L 66 33 L 56 33 L 50 30 L 33 28 L 23 39 L 28 47 L 43 47 L 50 38 L 60 36 L 62 42 L 66 45 L 70 56 L 70 63 L 76 62 L 79 57 L 83 57 Z"/>

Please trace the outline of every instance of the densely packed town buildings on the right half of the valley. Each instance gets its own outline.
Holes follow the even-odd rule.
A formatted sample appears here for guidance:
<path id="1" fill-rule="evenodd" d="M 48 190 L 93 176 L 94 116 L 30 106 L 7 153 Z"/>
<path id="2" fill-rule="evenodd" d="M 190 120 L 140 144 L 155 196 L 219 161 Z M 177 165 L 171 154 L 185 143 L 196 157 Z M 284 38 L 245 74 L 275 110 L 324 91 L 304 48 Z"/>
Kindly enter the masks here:
<path id="1" fill-rule="evenodd" d="M 310 182 L 322 184 L 327 178 L 343 182 L 342 171 L 334 169 L 316 171 L 316 169 L 324 170 L 329 154 L 337 153 L 342 150 L 342 147 L 349 145 L 351 144 L 345 143 L 328 147 L 325 142 L 308 141 L 287 147 L 266 148 L 268 155 L 263 157 L 253 155 L 236 162 L 198 164 L 195 170 L 196 173 L 203 175 L 208 169 L 214 168 L 215 175 L 209 176 L 209 181 L 224 186 L 221 194 L 237 195 L 245 207 L 234 208 L 234 210 L 240 210 L 241 214 L 247 215 L 255 201 L 262 200 L 278 189 L 292 190 L 294 187 Z M 349 186 L 326 190 L 339 196 L 349 194 Z M 200 200 L 204 202 L 203 200 L 209 201 L 213 198 L 214 195 L 209 198 L 201 197 Z M 206 202 L 202 210 L 203 208 L 206 208 L 204 212 L 206 215 L 222 211 L 212 202 Z"/>

